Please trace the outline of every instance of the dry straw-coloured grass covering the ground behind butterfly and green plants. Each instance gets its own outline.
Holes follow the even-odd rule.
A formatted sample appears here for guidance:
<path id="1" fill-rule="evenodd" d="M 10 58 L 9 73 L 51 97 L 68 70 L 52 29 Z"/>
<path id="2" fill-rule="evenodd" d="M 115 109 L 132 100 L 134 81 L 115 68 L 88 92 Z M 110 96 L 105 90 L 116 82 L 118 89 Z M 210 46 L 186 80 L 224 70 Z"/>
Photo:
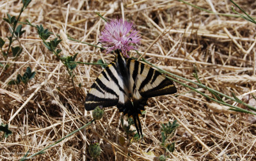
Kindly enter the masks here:
<path id="1" fill-rule="evenodd" d="M 6 42 L 10 36 L 6 13 L 19 15 L 22 1 L 0 1 L 0 36 Z M 186 1 L 207 10 L 234 15 L 228 0 Z M 210 0 L 211 2 L 211 0 Z M 235 0 L 241 8 L 255 15 L 255 1 Z M 236 8 L 238 11 L 238 9 Z M 32 1 L 22 13 L 20 21 L 28 19 L 34 25 L 44 26 L 54 34 L 61 30 L 68 36 L 97 45 L 102 20 L 132 20 L 140 31 L 143 53 L 166 27 L 169 33 L 148 50 L 145 59 L 187 79 L 193 77 L 194 65 L 203 84 L 232 96 L 232 92 L 255 107 L 250 92 L 255 90 L 255 24 L 241 18 L 213 15 L 180 1 Z M 8 70 L 0 68 L 0 123 L 9 124 L 13 134 L 0 142 L 0 160 L 17 160 L 28 150 L 29 155 L 42 150 L 61 137 L 92 120 L 91 112 L 84 110 L 84 98 L 93 81 L 102 71 L 99 65 L 78 65 L 74 78 L 76 91 L 60 60 L 43 45 L 36 27 L 22 25 L 26 33 L 13 45 L 22 45 L 20 56 L 9 57 Z M 52 35 L 49 40 L 56 36 Z M 61 37 L 63 39 L 64 37 Z M 8 43 L 4 45 L 6 50 Z M 63 55 L 74 55 L 76 61 L 106 63 L 114 56 L 105 55 L 99 48 L 63 40 L 59 45 Z M 138 57 L 132 51 L 131 56 Z M 6 64 L 1 53 L 0 60 Z M 36 71 L 28 86 L 7 85 L 17 74 L 30 66 Z M 181 81 L 181 80 L 180 80 Z M 182 81 L 190 86 L 189 82 Z M 81 83 L 81 88 L 79 88 Z M 122 146 L 124 136 L 120 125 L 121 114 L 116 107 L 108 108 L 104 117 L 84 130 L 68 137 L 37 155 L 33 160 L 91 160 L 88 145 L 96 139 L 102 148 L 98 160 L 153 160 L 164 154 L 161 148 L 161 123 L 175 119 L 179 122 L 175 151 L 166 153 L 171 160 L 252 160 L 256 155 L 255 116 L 227 111 L 204 96 L 177 84 L 177 95 L 159 96 L 148 100 L 147 113 L 140 117 L 145 137 L 130 146 Z M 198 90 L 212 96 L 203 88 Z M 223 98 L 225 100 L 225 98 Z M 78 100 L 78 102 L 77 102 Z M 228 101 L 244 108 L 241 104 Z M 152 151 L 152 153 L 148 153 Z M 154 155 L 153 155 L 154 154 Z"/>

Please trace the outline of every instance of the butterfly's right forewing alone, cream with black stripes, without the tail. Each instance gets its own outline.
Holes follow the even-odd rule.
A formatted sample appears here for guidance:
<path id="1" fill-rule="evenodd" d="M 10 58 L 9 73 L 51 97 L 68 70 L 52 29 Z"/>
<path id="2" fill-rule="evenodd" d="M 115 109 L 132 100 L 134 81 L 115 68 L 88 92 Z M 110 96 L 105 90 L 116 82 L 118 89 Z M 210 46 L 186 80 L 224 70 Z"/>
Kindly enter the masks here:
<path id="1" fill-rule="evenodd" d="M 132 90 L 138 90 L 144 98 L 177 92 L 170 79 L 150 66 L 131 58 L 127 59 L 127 66 L 129 67 L 131 78 L 134 80 Z"/>

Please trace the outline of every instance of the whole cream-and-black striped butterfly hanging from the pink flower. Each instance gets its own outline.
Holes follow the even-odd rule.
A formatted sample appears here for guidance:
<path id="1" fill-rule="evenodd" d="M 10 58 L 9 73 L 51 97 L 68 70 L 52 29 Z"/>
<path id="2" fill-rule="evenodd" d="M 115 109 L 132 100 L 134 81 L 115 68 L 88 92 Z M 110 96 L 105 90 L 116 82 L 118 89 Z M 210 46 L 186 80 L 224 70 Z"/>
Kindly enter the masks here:
<path id="1" fill-rule="evenodd" d="M 100 73 L 85 98 L 86 111 L 115 106 L 134 119 L 139 136 L 142 136 L 139 115 L 145 111 L 150 97 L 177 92 L 175 85 L 162 73 L 150 66 L 124 57 L 121 50 L 115 50 L 115 60 Z"/>

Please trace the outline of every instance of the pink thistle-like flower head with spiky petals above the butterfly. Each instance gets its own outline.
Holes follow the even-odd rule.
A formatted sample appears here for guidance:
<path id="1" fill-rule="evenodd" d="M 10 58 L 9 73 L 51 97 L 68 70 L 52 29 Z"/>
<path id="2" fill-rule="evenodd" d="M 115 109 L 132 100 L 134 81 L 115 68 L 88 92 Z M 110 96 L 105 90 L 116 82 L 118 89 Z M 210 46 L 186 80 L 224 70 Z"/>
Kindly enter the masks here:
<path id="1" fill-rule="evenodd" d="M 122 19 L 111 20 L 106 24 L 101 36 L 99 36 L 100 43 L 107 47 L 106 54 L 120 49 L 124 56 L 129 57 L 127 52 L 137 49 L 134 45 L 140 44 L 141 38 L 132 25 L 132 22 L 123 21 Z"/>

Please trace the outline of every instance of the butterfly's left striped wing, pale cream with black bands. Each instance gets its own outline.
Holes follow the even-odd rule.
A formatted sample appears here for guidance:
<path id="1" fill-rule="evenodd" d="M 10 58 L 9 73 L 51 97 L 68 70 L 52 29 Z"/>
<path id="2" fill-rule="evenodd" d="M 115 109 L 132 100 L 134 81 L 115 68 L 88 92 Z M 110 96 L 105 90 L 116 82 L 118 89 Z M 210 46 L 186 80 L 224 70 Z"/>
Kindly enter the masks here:
<path id="1" fill-rule="evenodd" d="M 119 93 L 123 89 L 118 82 L 120 77 L 116 63 L 113 61 L 100 73 L 86 95 L 84 103 L 86 111 L 93 110 L 98 105 L 111 107 L 118 104 Z"/>

